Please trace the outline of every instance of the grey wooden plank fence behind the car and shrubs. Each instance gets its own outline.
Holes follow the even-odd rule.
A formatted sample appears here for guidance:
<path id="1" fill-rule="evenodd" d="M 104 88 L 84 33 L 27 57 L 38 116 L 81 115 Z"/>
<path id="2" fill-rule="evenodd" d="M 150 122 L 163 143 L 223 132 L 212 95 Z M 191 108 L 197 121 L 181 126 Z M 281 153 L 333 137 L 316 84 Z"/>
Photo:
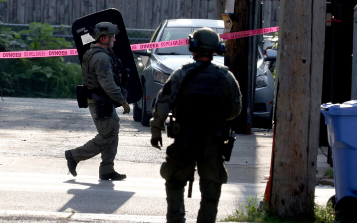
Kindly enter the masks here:
<path id="1" fill-rule="evenodd" d="M 0 21 L 71 25 L 79 17 L 116 8 L 126 28 L 155 29 L 164 19 L 214 19 L 216 1 L 222 0 L 6 0 L 0 2 Z M 280 1 L 263 2 L 264 27 L 277 26 Z"/>

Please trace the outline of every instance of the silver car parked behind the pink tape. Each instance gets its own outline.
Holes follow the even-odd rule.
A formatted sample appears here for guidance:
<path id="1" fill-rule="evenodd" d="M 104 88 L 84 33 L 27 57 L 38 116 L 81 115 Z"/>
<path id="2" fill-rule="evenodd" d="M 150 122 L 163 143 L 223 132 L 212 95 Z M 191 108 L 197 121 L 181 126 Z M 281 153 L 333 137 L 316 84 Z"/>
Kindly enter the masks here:
<path id="1" fill-rule="evenodd" d="M 188 37 L 188 34 L 201 27 L 211 27 L 217 33 L 222 34 L 224 23 L 223 20 L 213 19 L 164 20 L 152 34 L 150 42 L 184 39 Z M 137 67 L 143 87 L 143 98 L 134 103 L 133 118 L 134 121 L 141 121 L 143 126 L 149 126 L 158 91 L 174 70 L 194 60 L 187 45 L 133 52 L 137 54 Z M 138 57 L 139 55 L 140 57 Z M 212 62 L 224 65 L 224 56 L 214 55 Z M 254 118 L 263 119 L 264 122 L 271 125 L 273 99 L 274 77 L 266 67 L 262 51 L 259 49 Z"/>

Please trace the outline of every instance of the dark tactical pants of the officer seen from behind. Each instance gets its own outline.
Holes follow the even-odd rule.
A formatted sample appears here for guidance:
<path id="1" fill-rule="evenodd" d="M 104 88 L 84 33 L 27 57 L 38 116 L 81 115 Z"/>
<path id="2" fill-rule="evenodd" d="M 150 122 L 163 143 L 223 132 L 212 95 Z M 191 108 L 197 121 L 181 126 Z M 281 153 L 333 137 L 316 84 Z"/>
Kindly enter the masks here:
<path id="1" fill-rule="evenodd" d="M 203 154 L 197 162 L 184 167 L 177 166 L 170 157 L 161 165 L 160 174 L 166 180 L 167 223 L 184 223 L 184 187 L 193 176 L 197 164 L 201 202 L 197 223 L 215 223 L 222 184 L 227 183 L 228 174 L 219 145 L 212 139 L 205 143 Z"/>

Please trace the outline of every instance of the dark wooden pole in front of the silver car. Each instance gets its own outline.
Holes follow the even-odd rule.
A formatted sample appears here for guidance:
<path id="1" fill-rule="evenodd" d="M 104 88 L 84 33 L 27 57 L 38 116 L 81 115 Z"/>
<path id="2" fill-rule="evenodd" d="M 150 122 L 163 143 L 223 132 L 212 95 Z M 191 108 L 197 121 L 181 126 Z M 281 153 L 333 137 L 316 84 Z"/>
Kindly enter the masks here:
<path id="1" fill-rule="evenodd" d="M 231 32 L 249 30 L 249 5 L 248 0 L 235 0 L 234 14 L 229 15 L 233 21 Z M 248 53 L 249 38 L 227 40 L 227 52 L 224 64 L 234 74 L 239 82 L 243 109 L 241 114 L 232 121 L 232 129 L 239 134 L 251 134 L 252 120 L 247 120 L 248 106 Z M 250 112 L 250 111 L 249 111 Z"/>

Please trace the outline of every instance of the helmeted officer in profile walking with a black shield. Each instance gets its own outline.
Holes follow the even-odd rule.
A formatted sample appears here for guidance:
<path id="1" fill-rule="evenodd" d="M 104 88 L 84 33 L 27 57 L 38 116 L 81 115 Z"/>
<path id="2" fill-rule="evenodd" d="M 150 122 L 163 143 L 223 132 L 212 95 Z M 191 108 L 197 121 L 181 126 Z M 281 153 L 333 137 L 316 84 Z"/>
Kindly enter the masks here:
<path id="1" fill-rule="evenodd" d="M 115 24 L 100 22 L 95 25 L 91 44 L 82 59 L 83 84 L 88 89 L 88 107 L 98 134 L 83 146 L 65 151 L 69 172 L 75 177 L 78 162 L 101 154 L 99 166 L 101 180 L 123 180 L 124 174 L 114 171 L 114 158 L 117 153 L 119 117 L 115 102 L 123 106 L 123 114 L 130 112 L 124 88 L 114 82 L 112 61 L 115 58 L 112 47 L 115 34 L 119 30 Z"/>

